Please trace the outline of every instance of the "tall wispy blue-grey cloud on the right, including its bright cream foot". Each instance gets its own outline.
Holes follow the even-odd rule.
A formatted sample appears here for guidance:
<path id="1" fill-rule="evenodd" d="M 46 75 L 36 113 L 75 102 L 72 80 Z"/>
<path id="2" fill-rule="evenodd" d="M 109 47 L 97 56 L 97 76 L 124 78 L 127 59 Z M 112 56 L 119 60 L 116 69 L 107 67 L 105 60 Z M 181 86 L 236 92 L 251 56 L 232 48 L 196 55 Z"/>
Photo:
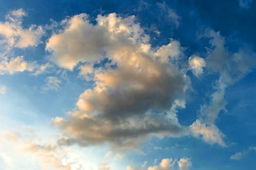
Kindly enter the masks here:
<path id="1" fill-rule="evenodd" d="M 210 102 L 201 105 L 199 119 L 190 126 L 190 129 L 195 136 L 201 135 L 204 141 L 211 144 L 219 143 L 224 147 L 225 135 L 215 125 L 215 120 L 220 111 L 227 111 L 226 88 L 244 78 L 255 68 L 256 54 L 248 47 L 230 53 L 225 47 L 225 38 L 214 30 L 206 30 L 205 36 L 210 38 L 211 44 L 206 58 L 207 68 L 220 77 L 215 82 L 215 92 L 210 95 Z"/>

